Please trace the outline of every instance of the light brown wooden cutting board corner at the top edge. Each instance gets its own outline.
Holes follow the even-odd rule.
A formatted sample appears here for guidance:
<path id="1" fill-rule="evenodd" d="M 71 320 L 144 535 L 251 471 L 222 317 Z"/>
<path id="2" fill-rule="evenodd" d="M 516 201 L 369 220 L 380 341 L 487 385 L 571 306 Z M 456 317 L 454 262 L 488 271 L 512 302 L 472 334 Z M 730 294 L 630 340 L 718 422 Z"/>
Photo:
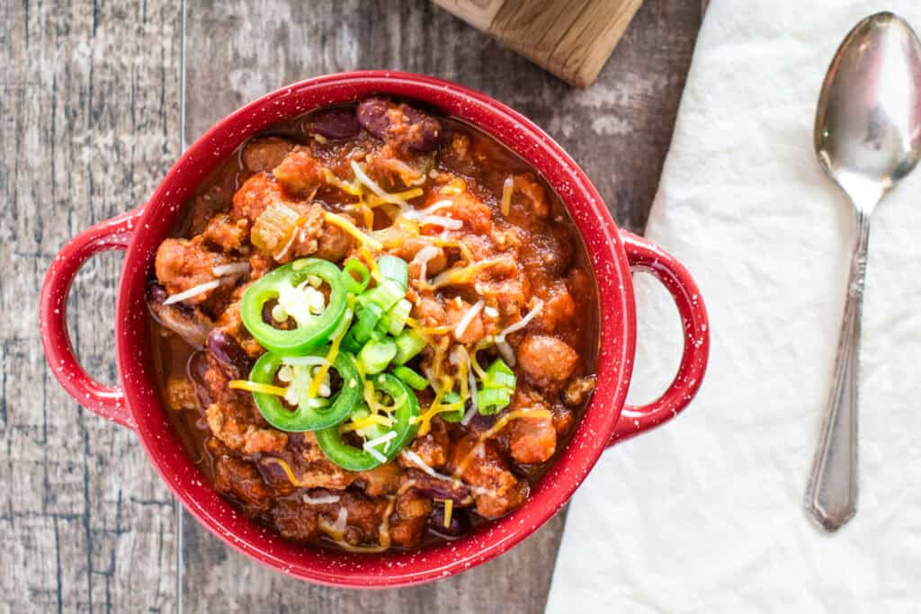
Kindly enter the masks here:
<path id="1" fill-rule="evenodd" d="M 432 0 L 576 87 L 589 87 L 643 0 Z"/>

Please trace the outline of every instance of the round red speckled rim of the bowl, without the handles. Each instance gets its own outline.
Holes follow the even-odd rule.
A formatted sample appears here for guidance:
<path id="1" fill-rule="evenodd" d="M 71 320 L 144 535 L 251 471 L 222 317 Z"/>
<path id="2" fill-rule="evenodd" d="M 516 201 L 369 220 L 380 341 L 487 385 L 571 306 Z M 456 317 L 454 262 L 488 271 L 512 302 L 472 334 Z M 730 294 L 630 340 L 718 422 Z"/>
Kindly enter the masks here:
<path id="1" fill-rule="evenodd" d="M 216 494 L 186 457 L 157 395 L 146 352 L 146 280 L 159 242 L 195 187 L 254 133 L 319 107 L 372 93 L 422 101 L 493 135 L 542 173 L 569 210 L 592 261 L 599 291 L 598 388 L 569 445 L 529 500 L 472 534 L 424 550 L 352 554 L 298 545 L 259 527 Z M 321 76 L 284 87 L 237 110 L 194 143 L 146 204 L 125 256 L 116 305 L 119 373 L 137 432 L 157 471 L 186 509 L 218 538 L 257 562 L 323 585 L 413 585 L 467 570 L 505 552 L 568 501 L 600 457 L 624 406 L 633 369 L 635 306 L 630 268 L 611 215 L 573 159 L 504 104 L 447 81 L 367 71 Z"/>

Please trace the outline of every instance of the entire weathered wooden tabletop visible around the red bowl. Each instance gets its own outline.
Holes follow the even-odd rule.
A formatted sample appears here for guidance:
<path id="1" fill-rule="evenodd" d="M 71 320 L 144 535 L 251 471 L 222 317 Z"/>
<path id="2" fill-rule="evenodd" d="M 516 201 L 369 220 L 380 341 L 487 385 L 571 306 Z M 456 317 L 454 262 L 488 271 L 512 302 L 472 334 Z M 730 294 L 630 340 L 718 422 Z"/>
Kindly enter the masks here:
<path id="1" fill-rule="evenodd" d="M 537 612 L 564 515 L 499 559 L 383 592 L 298 583 L 229 550 L 174 504 L 137 439 L 48 373 L 41 280 L 82 228 L 143 203 L 181 152 L 286 82 L 388 67 L 473 87 L 528 115 L 641 230 L 701 17 L 647 0 L 598 82 L 565 86 L 427 0 L 7 2 L 0 25 L 0 604 L 5 611 Z M 114 382 L 121 259 L 87 264 L 70 325 Z M 180 564 L 177 565 L 177 561 Z"/>

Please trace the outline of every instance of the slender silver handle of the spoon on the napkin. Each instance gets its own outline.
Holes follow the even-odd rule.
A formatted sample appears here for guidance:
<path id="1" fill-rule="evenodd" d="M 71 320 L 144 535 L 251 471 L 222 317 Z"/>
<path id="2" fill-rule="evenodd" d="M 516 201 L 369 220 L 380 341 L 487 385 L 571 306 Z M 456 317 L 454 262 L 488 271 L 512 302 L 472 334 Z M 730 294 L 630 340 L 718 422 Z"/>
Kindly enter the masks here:
<path id="1" fill-rule="evenodd" d="M 841 527 L 857 512 L 857 374 L 868 240 L 869 213 L 858 209 L 834 383 L 806 492 L 810 514 L 827 531 Z"/>

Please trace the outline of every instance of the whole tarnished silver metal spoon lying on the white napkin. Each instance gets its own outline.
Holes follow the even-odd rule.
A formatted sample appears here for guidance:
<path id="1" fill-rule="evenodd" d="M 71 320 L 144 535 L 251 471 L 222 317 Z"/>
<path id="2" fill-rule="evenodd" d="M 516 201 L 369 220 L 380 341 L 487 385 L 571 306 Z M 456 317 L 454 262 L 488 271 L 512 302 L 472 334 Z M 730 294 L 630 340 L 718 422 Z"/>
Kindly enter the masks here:
<path id="1" fill-rule="evenodd" d="M 834 55 L 815 116 L 815 152 L 857 213 L 857 243 L 827 418 L 806 504 L 826 530 L 857 512 L 857 367 L 873 207 L 921 156 L 921 43 L 901 17 L 857 24 Z"/>

